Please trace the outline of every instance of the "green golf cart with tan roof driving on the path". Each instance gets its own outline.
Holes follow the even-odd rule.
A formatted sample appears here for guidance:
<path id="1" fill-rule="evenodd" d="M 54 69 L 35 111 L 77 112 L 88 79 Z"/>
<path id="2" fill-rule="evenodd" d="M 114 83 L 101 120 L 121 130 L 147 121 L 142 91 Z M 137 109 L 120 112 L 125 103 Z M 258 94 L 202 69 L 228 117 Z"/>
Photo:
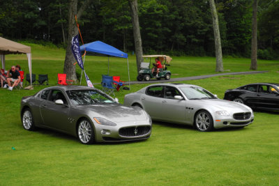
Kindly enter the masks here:
<path id="1" fill-rule="evenodd" d="M 151 68 L 151 59 L 153 59 L 153 67 L 155 67 L 155 59 L 158 58 L 158 60 L 161 62 L 162 67 L 159 70 L 158 76 L 156 76 L 157 72 L 154 70 L 152 73 Z M 142 59 L 146 62 L 142 62 L 140 64 L 140 72 L 139 75 L 137 75 L 137 81 L 142 82 L 142 80 L 145 80 L 148 82 L 151 78 L 156 79 L 170 79 L 170 75 L 172 73 L 167 70 L 167 66 L 169 66 L 169 62 L 172 61 L 172 58 L 165 55 L 149 55 L 149 56 L 142 56 Z M 148 61 L 148 62 L 147 62 Z"/>

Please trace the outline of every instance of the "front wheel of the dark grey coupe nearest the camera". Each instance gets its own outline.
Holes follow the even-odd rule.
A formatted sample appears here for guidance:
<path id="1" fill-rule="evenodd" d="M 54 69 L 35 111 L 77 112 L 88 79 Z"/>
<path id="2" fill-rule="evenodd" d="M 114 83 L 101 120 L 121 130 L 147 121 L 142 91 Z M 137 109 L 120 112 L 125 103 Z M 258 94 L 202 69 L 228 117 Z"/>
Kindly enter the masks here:
<path id="1" fill-rule="evenodd" d="M 93 144 L 95 141 L 95 133 L 90 121 L 82 119 L 82 121 L 78 123 L 77 137 L 82 144 Z"/>

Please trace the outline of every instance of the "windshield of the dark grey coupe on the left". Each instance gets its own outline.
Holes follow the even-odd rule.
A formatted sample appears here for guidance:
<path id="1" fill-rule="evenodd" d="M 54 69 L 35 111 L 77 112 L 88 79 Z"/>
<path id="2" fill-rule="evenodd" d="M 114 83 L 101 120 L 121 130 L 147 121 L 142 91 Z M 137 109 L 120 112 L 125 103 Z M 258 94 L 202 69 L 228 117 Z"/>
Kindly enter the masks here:
<path id="1" fill-rule="evenodd" d="M 73 104 L 96 104 L 96 103 L 112 103 L 115 102 L 107 95 L 97 90 L 73 90 L 66 91 L 70 101 Z"/>

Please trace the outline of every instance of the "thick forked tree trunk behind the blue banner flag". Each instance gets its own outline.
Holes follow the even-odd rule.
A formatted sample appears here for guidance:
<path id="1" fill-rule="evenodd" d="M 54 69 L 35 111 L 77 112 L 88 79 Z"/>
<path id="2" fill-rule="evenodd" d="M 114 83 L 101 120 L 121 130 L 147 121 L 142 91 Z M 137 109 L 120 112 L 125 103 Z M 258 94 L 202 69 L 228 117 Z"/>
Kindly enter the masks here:
<path id="1" fill-rule="evenodd" d="M 76 36 L 78 33 L 78 29 L 75 23 L 75 15 L 77 15 L 77 20 L 81 17 L 84 8 L 89 4 L 90 0 L 84 1 L 82 7 L 77 13 L 77 0 L 70 0 L 69 3 L 69 17 L 68 17 L 68 39 L 67 39 L 67 48 L 66 48 L 66 56 L 64 61 L 64 74 L 67 75 L 67 79 L 72 79 L 75 82 L 77 81 L 77 75 L 75 74 L 75 58 L 70 49 L 70 45 L 72 42 L 73 36 Z"/>

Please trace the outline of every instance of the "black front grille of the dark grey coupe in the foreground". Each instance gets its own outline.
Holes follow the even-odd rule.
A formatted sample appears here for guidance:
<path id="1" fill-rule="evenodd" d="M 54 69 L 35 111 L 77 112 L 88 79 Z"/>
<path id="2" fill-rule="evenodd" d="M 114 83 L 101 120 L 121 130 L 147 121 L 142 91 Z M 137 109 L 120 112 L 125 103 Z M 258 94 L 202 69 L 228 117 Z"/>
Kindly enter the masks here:
<path id="1" fill-rule="evenodd" d="M 148 134 L 151 131 L 151 126 L 125 127 L 119 130 L 119 135 L 122 137 L 140 137 Z"/>

